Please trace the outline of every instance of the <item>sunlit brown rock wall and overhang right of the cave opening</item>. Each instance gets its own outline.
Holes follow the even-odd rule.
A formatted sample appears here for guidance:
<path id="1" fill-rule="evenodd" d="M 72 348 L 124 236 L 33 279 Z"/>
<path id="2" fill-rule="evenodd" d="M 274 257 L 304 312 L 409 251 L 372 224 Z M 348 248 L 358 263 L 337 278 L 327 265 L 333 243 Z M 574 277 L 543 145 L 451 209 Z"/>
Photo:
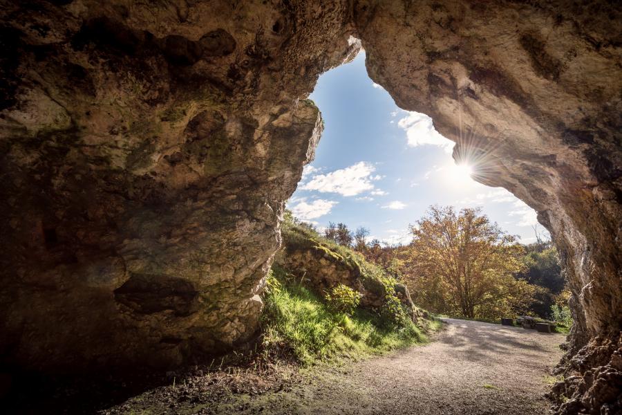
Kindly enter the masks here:
<path id="1" fill-rule="evenodd" d="M 400 107 L 431 116 L 457 142 L 456 160 L 525 201 L 552 233 L 576 320 L 558 410 L 622 411 L 620 5 L 357 5 L 370 77 Z"/>

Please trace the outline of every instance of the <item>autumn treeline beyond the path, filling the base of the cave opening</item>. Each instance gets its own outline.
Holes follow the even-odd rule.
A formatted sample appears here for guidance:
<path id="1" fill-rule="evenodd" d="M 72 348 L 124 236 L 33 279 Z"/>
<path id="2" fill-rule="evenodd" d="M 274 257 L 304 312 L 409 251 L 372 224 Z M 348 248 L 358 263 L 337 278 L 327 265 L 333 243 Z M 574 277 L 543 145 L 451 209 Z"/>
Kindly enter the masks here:
<path id="1" fill-rule="evenodd" d="M 406 282 L 415 304 L 434 313 L 478 320 L 533 315 L 571 324 L 550 241 L 521 244 L 479 208 L 451 206 L 431 206 L 409 232 L 413 241 L 403 246 L 368 241 L 368 229 L 352 231 L 345 223 L 329 223 L 323 235 Z"/>

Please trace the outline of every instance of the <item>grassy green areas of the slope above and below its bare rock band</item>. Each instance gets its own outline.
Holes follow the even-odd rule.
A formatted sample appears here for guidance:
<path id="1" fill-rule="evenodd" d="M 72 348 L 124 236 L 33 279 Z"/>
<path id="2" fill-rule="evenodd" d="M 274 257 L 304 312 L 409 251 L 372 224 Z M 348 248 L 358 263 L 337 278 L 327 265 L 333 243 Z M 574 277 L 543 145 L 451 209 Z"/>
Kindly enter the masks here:
<path id="1" fill-rule="evenodd" d="M 395 279 L 350 248 L 292 223 L 285 225 L 283 239 L 284 255 L 288 250 L 326 250 L 324 257 L 351 268 L 366 286 L 382 287 L 386 302 L 378 309 L 359 306 L 351 315 L 335 311 L 309 282 L 301 283 L 290 270 L 275 265 L 267 277 L 261 317 L 267 353 L 292 353 L 303 365 L 358 360 L 427 342 L 426 334 L 440 327 L 439 321 L 423 318 L 415 324 L 395 297 Z"/>

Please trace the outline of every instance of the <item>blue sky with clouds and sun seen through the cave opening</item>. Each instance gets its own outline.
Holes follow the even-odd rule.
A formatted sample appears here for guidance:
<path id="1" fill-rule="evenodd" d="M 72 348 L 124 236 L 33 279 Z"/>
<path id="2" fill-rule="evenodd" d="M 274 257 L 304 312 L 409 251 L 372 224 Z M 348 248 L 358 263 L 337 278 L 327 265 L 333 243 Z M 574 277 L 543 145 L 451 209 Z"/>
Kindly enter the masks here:
<path id="1" fill-rule="evenodd" d="M 477 183 L 455 165 L 453 142 L 421 113 L 399 109 L 367 75 L 365 53 L 328 71 L 310 99 L 324 132 L 315 159 L 288 201 L 301 221 L 322 230 L 343 222 L 370 230 L 369 239 L 408 243 L 408 225 L 430 205 L 480 206 L 491 221 L 522 243 L 536 240 L 536 212 L 501 187 Z M 543 232 L 538 225 L 538 232 Z"/>

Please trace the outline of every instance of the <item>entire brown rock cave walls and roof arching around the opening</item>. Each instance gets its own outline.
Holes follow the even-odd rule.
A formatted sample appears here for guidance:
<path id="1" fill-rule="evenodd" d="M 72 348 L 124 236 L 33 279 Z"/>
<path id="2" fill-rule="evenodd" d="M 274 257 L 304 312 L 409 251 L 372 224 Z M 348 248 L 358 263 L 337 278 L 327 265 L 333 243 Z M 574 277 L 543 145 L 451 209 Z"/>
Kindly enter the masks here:
<path id="1" fill-rule="evenodd" d="M 3 366 L 177 367 L 254 339 L 284 203 L 321 136 L 305 98 L 362 47 L 373 81 L 431 116 L 455 158 L 468 127 L 489 154 L 478 180 L 552 234 L 575 320 L 556 410 L 619 396 L 619 3 L 28 0 L 0 14 Z"/>

